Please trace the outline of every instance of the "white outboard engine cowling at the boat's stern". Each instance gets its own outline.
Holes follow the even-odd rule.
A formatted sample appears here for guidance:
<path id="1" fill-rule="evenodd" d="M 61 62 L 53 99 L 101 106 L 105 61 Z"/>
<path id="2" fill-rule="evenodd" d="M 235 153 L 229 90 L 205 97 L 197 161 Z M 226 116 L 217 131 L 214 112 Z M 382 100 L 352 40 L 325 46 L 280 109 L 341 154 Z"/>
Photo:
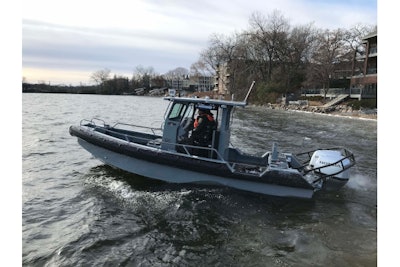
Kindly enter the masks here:
<path id="1" fill-rule="evenodd" d="M 351 164 L 351 162 L 347 158 L 344 159 L 345 157 L 346 156 L 343 155 L 342 151 L 340 150 L 317 150 L 312 155 L 309 165 L 313 169 L 322 167 L 319 169 L 319 172 L 322 174 L 333 175 L 334 178 L 343 180 L 343 182 L 347 182 L 349 180 L 350 173 L 348 169 L 343 171 L 343 167 L 347 167 Z M 336 163 L 335 165 L 323 167 L 340 160 L 342 161 Z"/>

